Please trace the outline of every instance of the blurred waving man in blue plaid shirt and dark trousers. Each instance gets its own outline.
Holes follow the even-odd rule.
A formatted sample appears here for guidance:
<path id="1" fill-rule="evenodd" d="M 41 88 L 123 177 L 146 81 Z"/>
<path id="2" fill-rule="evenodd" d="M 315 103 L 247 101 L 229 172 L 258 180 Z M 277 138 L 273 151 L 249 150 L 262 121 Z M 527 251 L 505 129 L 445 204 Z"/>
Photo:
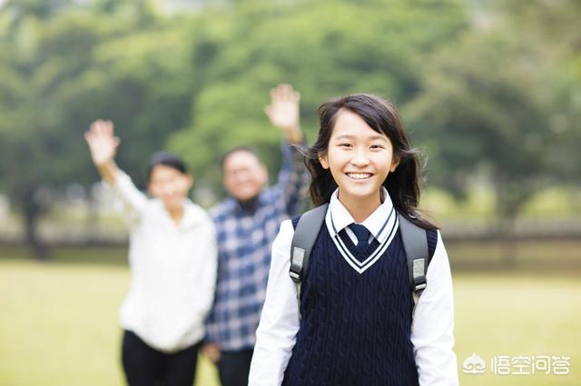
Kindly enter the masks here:
<path id="1" fill-rule="evenodd" d="M 271 90 L 265 108 L 281 129 L 282 167 L 267 187 L 267 168 L 249 147 L 236 147 L 222 160 L 223 183 L 231 197 L 211 210 L 218 237 L 218 282 L 206 322 L 204 352 L 217 363 L 222 386 L 246 386 L 255 332 L 271 264 L 271 244 L 281 222 L 299 213 L 309 183 L 297 145 L 300 95 L 288 84 Z"/>

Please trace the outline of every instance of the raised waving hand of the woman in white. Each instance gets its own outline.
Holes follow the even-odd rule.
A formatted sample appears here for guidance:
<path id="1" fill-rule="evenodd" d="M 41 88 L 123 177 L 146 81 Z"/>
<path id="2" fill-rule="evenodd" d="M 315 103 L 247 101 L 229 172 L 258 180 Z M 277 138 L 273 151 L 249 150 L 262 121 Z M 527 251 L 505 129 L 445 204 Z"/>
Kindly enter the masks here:
<path id="1" fill-rule="evenodd" d="M 111 163 L 117 153 L 119 138 L 114 136 L 113 122 L 99 119 L 91 124 L 90 130 L 84 133 L 84 139 L 89 144 L 91 158 L 97 167 Z"/>

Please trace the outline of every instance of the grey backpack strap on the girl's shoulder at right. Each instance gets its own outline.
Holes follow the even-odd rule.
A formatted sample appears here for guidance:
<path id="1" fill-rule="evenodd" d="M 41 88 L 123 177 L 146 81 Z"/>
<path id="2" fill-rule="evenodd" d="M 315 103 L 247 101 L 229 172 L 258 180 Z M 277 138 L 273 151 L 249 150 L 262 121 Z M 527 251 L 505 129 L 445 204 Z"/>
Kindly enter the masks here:
<path id="1" fill-rule="evenodd" d="M 399 213 L 399 232 L 403 241 L 408 260 L 409 285 L 414 299 L 414 309 L 419 301 L 421 292 L 428 284 L 426 272 L 428 272 L 429 251 L 428 234 L 415 223 L 411 223 L 404 215 Z"/>

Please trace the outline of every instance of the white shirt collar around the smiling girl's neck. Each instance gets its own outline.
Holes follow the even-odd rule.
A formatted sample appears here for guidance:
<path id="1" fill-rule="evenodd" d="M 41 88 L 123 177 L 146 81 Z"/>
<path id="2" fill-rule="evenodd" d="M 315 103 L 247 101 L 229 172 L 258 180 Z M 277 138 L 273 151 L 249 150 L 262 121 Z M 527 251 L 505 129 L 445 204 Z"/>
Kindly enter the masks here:
<path id="1" fill-rule="evenodd" d="M 325 223 L 331 235 L 340 233 L 342 229 L 351 223 L 355 223 L 355 220 L 353 220 L 353 217 L 347 208 L 345 208 L 337 198 L 338 193 L 339 188 L 337 188 L 331 195 L 329 210 L 325 217 Z M 361 225 L 364 225 L 379 242 L 382 242 L 386 237 L 388 237 L 389 232 L 386 232 L 386 230 L 391 228 L 389 223 L 395 222 L 396 219 L 395 212 L 392 211 L 393 203 L 391 202 L 391 197 L 389 197 L 388 190 L 383 186 L 381 186 L 381 199 L 383 200 L 383 203 L 381 203 L 368 218 L 360 223 Z"/>

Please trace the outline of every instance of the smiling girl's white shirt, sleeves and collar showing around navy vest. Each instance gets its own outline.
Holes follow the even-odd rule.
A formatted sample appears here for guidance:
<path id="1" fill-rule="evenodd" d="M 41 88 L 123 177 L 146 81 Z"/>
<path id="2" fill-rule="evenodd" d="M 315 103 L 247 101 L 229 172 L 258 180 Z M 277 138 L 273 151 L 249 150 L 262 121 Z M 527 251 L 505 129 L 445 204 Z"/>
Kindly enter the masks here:
<path id="1" fill-rule="evenodd" d="M 331 238 L 350 223 L 355 223 L 349 211 L 333 193 L 325 224 Z M 370 238 L 386 242 L 385 232 L 393 204 L 387 191 L 383 203 L 361 224 L 371 233 Z M 393 216 L 397 222 L 397 216 Z M 332 221 L 331 221 L 332 219 Z M 396 223 L 395 226 L 398 224 Z M 382 231 L 383 229 L 383 231 Z M 397 228 L 396 228 L 397 229 Z M 347 233 L 350 233 L 347 228 Z M 385 234 L 384 234 L 385 233 Z M 252 356 L 249 386 L 281 385 L 284 371 L 299 331 L 297 286 L 289 276 L 291 240 L 294 229 L 290 220 L 281 223 L 281 231 L 272 244 L 272 262 L 266 301 L 256 332 L 257 342 Z M 357 242 L 354 234 L 351 240 Z M 438 244 L 426 275 L 428 287 L 419 298 L 411 325 L 411 342 L 419 374 L 420 386 L 458 385 L 458 368 L 454 353 L 454 306 L 452 278 L 448 253 L 438 232 Z"/>

